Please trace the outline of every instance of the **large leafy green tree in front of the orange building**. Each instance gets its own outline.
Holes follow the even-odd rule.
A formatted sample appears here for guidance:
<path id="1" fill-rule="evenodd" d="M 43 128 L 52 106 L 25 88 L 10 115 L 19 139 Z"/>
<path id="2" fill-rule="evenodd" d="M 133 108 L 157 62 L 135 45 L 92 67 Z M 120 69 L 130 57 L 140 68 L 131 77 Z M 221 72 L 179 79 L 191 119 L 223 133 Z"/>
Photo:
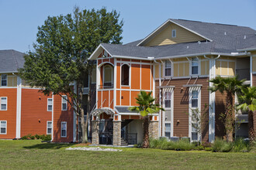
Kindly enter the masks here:
<path id="1" fill-rule="evenodd" d="M 87 118 L 84 120 L 82 105 L 83 80 L 88 73 L 92 80 L 92 68 L 95 66 L 88 57 L 99 43 L 120 43 L 123 20 L 119 21 L 116 10 L 80 10 L 74 7 L 73 14 L 53 16 L 38 27 L 34 51 L 29 51 L 24 58 L 24 67 L 19 70 L 22 79 L 31 87 L 42 87 L 44 94 L 66 94 L 67 102 L 81 118 L 82 142 L 87 142 Z M 74 83 L 75 82 L 75 83 Z M 78 91 L 74 91 L 74 83 Z M 88 103 L 91 100 L 89 86 Z"/>

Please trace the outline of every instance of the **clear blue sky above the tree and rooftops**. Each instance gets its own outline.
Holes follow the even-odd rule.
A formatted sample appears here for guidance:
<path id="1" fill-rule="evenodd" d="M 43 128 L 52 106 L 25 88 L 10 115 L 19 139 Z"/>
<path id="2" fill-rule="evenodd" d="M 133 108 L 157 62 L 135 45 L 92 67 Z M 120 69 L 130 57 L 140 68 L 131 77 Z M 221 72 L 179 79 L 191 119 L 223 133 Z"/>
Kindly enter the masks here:
<path id="1" fill-rule="evenodd" d="M 123 19 L 123 43 L 142 39 L 167 19 L 226 23 L 256 29 L 255 0 L 0 0 L 0 49 L 27 52 L 47 16 L 80 8 L 116 9 Z"/>

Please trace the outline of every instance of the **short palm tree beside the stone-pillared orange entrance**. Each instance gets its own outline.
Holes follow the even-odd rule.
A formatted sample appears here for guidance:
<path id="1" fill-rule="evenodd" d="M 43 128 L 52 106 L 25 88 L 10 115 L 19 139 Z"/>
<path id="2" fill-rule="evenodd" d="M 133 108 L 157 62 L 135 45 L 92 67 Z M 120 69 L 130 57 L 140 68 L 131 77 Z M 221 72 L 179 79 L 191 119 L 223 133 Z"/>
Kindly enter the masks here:
<path id="1" fill-rule="evenodd" d="M 138 97 L 136 98 L 138 107 L 130 107 L 132 111 L 137 111 L 143 117 L 143 127 L 144 127 L 144 138 L 142 148 L 149 148 L 149 115 L 157 113 L 159 110 L 164 110 L 159 107 L 159 104 L 154 104 L 154 98 L 151 96 L 151 93 L 145 91 L 140 91 Z"/>

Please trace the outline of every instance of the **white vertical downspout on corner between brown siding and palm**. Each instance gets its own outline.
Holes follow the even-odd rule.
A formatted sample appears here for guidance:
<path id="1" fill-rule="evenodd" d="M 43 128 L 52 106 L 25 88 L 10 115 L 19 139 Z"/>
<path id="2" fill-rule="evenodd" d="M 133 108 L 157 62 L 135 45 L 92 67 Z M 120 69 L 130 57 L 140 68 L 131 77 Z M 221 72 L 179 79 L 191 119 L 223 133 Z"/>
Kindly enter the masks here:
<path id="1" fill-rule="evenodd" d="M 206 59 L 209 59 L 209 80 L 214 79 L 216 77 L 216 59 L 220 58 L 218 55 L 215 59 L 210 59 L 206 55 L 204 55 Z M 212 63 L 213 62 L 213 63 Z M 209 87 L 212 87 L 213 83 L 209 82 Z M 215 92 L 209 92 L 209 142 L 213 142 L 215 138 Z"/>

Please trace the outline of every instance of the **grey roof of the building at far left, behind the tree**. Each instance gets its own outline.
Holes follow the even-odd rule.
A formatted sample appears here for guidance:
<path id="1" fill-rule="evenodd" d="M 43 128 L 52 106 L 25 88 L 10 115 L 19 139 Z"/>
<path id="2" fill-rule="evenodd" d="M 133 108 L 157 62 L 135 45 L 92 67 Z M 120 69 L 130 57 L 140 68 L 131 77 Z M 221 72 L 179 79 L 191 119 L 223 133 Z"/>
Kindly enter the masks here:
<path id="1" fill-rule="evenodd" d="M 18 72 L 25 63 L 24 55 L 13 49 L 0 50 L 0 73 Z"/>

